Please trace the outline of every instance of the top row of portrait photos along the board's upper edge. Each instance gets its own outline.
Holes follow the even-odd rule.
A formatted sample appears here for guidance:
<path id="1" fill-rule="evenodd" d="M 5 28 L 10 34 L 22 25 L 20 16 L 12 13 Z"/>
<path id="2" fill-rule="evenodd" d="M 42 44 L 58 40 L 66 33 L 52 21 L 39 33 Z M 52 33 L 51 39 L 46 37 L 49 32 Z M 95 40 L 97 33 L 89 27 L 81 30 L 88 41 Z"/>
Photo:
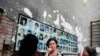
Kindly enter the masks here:
<path id="1" fill-rule="evenodd" d="M 20 24 L 23 27 L 25 26 L 25 27 L 28 27 L 29 29 L 31 29 L 31 30 L 27 30 L 30 33 L 32 33 L 31 31 L 33 29 L 33 30 L 38 30 L 38 32 L 41 31 L 44 33 L 49 33 L 49 34 L 55 33 L 58 36 L 63 36 L 63 37 L 66 37 L 67 39 L 77 41 L 77 37 L 70 33 L 64 32 L 62 30 L 58 30 L 57 28 L 54 28 L 50 25 L 38 22 L 36 20 L 32 20 L 32 19 L 24 17 L 24 16 L 21 16 L 18 24 Z M 41 35 L 44 35 L 44 34 L 41 34 Z"/>

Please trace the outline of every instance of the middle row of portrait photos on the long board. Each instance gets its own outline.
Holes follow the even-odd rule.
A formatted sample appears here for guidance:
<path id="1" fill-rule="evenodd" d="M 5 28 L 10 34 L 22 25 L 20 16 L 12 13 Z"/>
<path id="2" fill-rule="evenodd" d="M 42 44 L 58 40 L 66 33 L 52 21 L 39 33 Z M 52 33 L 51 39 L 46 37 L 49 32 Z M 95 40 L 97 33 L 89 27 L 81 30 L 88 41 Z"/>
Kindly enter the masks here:
<path id="1" fill-rule="evenodd" d="M 75 37 L 70 37 L 70 36 L 65 37 L 65 36 L 57 35 L 56 33 L 49 34 L 46 32 L 41 32 L 39 30 L 35 30 L 34 28 L 29 29 L 28 27 L 22 27 L 21 25 L 19 25 L 18 35 L 23 36 L 26 34 L 34 34 L 39 38 L 39 40 L 45 40 L 45 39 L 48 39 L 50 37 L 55 37 L 55 38 L 58 38 L 57 40 L 61 41 L 61 44 L 67 44 L 71 41 L 77 42 L 77 40 L 72 40 Z"/>

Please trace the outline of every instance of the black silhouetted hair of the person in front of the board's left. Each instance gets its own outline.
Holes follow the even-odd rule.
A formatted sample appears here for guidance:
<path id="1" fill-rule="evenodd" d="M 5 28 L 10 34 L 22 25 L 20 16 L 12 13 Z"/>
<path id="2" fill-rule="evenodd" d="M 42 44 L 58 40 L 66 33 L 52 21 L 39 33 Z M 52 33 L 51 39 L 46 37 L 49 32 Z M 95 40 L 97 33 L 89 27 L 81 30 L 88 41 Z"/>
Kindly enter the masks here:
<path id="1" fill-rule="evenodd" d="M 21 42 L 19 56 L 33 56 L 37 50 L 38 38 L 32 34 L 27 34 Z"/>

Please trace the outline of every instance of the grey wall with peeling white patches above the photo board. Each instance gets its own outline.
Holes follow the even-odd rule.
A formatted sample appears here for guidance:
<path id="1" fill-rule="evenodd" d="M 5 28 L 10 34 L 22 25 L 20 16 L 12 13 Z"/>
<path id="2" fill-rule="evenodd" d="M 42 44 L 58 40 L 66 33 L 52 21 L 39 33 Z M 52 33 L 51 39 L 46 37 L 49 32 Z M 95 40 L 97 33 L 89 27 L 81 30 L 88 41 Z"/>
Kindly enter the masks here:
<path id="1" fill-rule="evenodd" d="M 6 15 L 16 22 L 18 14 L 22 13 L 78 36 L 78 46 L 81 50 L 84 46 L 90 45 L 89 22 L 99 19 L 97 18 L 99 14 L 94 16 L 92 12 L 93 8 L 97 7 L 92 7 L 92 5 L 99 2 L 93 0 L 85 3 L 83 0 L 0 0 L 0 8 L 3 8 Z"/>

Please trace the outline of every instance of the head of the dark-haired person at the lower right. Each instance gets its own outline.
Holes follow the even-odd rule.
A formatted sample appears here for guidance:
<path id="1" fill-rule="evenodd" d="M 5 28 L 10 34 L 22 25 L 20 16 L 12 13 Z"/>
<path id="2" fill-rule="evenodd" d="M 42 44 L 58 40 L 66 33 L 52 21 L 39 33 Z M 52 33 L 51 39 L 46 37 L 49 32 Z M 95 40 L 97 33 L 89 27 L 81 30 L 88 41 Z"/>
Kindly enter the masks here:
<path id="1" fill-rule="evenodd" d="M 83 51 L 83 56 L 97 56 L 97 52 L 94 48 L 86 46 Z"/>

